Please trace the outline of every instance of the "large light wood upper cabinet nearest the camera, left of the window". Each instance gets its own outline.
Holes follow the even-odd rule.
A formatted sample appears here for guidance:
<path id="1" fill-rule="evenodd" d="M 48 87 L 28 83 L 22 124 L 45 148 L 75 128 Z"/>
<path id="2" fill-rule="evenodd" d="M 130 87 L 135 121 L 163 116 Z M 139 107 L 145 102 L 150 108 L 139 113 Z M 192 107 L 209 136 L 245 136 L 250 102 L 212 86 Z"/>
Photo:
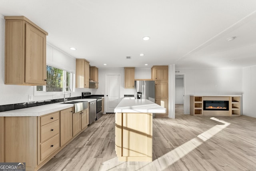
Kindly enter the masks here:
<path id="1" fill-rule="evenodd" d="M 46 85 L 48 33 L 24 16 L 5 16 L 5 84 Z"/>

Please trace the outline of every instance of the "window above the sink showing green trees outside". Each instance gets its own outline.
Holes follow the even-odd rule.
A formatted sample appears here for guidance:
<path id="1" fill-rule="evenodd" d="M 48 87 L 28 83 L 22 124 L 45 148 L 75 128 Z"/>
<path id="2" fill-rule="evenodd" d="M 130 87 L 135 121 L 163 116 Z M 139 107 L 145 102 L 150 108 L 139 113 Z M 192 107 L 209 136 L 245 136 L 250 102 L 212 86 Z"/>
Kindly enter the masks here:
<path id="1" fill-rule="evenodd" d="M 72 89 L 72 72 L 46 66 L 46 85 L 36 86 L 36 91 L 61 92 L 64 87 Z"/>

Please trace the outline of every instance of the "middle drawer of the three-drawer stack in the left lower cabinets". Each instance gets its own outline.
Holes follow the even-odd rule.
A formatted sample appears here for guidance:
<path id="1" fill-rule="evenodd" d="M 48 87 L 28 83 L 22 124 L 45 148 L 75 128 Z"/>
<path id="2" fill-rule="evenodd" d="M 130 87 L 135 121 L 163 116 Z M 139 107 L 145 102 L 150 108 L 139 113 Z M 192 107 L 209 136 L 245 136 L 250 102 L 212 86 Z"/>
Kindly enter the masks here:
<path id="1" fill-rule="evenodd" d="M 60 132 L 59 120 L 48 123 L 41 127 L 41 143 Z"/>

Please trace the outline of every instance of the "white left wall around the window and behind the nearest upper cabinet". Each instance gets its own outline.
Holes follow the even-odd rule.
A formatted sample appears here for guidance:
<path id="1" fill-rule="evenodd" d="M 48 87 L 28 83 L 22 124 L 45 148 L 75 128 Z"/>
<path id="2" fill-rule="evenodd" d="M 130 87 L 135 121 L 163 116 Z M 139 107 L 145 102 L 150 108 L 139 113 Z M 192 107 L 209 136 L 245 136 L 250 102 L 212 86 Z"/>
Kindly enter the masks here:
<path id="1" fill-rule="evenodd" d="M 4 17 L 0 15 L 0 105 L 28 102 L 28 95 L 32 95 L 32 101 L 63 98 L 62 94 L 35 96 L 34 86 L 4 84 L 4 34 L 5 20 Z M 46 47 L 46 63 L 72 71 L 75 71 L 76 67 L 76 60 L 74 58 L 49 45 Z M 75 89 L 75 92 L 73 92 L 71 96 L 81 96 L 82 91 L 92 91 L 92 89 Z"/>

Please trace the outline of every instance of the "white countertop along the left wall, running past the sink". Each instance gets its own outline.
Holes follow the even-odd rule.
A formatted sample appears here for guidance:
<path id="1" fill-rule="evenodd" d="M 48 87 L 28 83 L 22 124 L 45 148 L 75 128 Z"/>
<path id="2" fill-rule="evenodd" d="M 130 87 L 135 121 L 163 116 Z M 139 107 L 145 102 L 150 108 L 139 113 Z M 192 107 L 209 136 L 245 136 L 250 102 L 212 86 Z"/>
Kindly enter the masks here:
<path id="1" fill-rule="evenodd" d="M 75 99 L 70 101 L 96 101 L 97 99 Z M 10 110 L 10 111 L 2 111 L 0 112 L 0 117 L 8 117 L 8 116 L 42 116 L 46 115 L 48 113 L 52 113 L 55 111 L 60 111 L 63 109 L 67 109 L 69 107 L 73 107 L 74 104 L 62 104 L 60 103 L 52 103 L 47 105 L 40 105 L 40 106 L 34 106 L 34 107 L 27 107 L 23 109 L 16 109 L 16 110 Z"/>

